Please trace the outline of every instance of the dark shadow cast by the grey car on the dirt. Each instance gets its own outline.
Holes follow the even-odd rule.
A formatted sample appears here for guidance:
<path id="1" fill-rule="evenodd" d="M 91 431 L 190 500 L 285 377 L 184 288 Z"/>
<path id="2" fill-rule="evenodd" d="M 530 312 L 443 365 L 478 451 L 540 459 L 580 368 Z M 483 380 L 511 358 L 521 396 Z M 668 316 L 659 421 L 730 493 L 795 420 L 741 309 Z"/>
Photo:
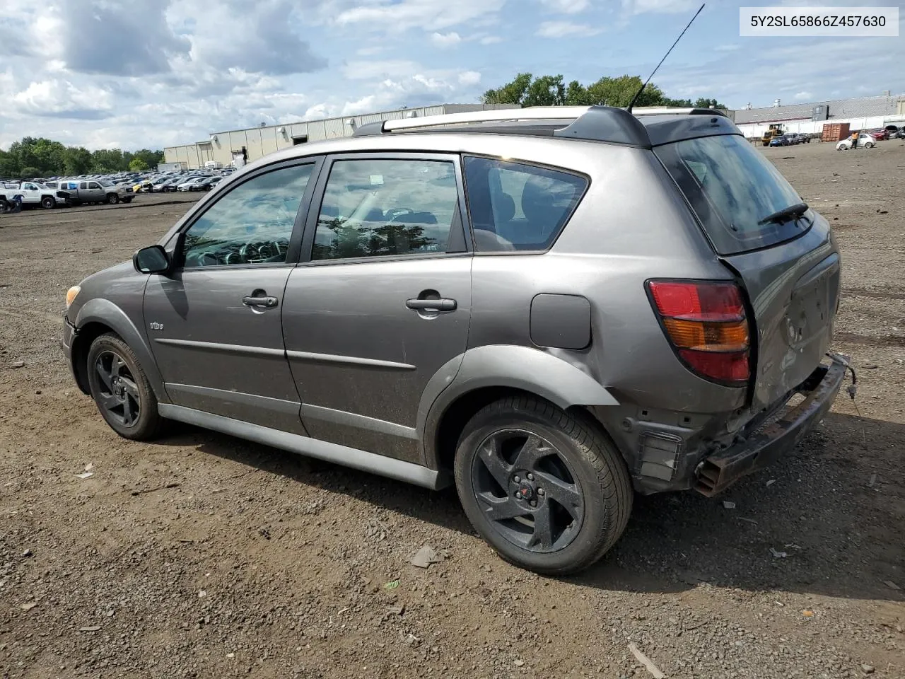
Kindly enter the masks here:
<path id="1" fill-rule="evenodd" d="M 706 582 L 748 591 L 905 600 L 905 426 L 832 413 L 773 466 L 718 498 L 635 496 L 624 536 L 567 579 L 584 587 L 677 592 Z M 472 534 L 456 493 L 434 493 L 184 426 L 162 442 Z"/>

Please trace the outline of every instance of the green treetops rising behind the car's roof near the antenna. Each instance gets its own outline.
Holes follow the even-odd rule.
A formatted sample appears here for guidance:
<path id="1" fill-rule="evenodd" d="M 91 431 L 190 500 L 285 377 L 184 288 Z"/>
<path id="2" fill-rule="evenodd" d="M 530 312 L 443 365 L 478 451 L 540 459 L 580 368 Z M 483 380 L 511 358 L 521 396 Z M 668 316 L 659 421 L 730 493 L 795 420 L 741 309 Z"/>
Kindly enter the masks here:
<path id="1" fill-rule="evenodd" d="M 568 84 L 561 75 L 519 73 L 512 81 L 481 96 L 485 104 L 519 104 L 521 106 L 594 106 L 606 105 L 625 108 L 632 102 L 635 92 L 641 89 L 643 80 L 637 75 L 604 77 L 589 85 L 578 81 Z M 680 106 L 725 110 L 727 107 L 715 99 L 670 99 L 663 91 L 649 82 L 635 106 Z"/>

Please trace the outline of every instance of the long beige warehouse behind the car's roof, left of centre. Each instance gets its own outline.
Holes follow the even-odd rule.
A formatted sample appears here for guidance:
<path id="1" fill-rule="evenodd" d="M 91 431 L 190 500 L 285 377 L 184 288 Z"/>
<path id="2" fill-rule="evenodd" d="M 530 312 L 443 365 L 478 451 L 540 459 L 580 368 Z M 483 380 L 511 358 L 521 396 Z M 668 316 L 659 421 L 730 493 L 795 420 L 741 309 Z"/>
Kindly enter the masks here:
<path id="1" fill-rule="evenodd" d="M 210 139 L 185 146 L 164 148 L 164 164 L 178 163 L 182 167 L 204 167 L 208 161 L 226 167 L 234 158 L 252 162 L 268 153 L 296 144 L 321 139 L 349 137 L 356 128 L 381 120 L 406 117 L 436 116 L 444 113 L 464 113 L 475 110 L 518 109 L 511 104 L 438 104 L 414 109 L 387 110 L 362 116 L 343 116 L 326 120 L 308 120 L 285 125 L 266 125 L 260 128 L 230 129 L 214 132 Z"/>

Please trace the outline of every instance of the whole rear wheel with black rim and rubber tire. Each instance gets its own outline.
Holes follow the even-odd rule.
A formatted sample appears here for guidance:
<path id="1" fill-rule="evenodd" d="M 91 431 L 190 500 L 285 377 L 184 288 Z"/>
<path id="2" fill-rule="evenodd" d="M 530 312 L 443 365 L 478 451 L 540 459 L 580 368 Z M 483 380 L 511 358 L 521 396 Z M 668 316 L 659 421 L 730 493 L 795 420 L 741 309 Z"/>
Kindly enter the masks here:
<path id="1" fill-rule="evenodd" d="M 622 535 L 633 491 L 622 456 L 590 419 L 534 397 L 508 397 L 465 426 L 455 481 L 472 526 L 502 559 L 567 575 Z"/>

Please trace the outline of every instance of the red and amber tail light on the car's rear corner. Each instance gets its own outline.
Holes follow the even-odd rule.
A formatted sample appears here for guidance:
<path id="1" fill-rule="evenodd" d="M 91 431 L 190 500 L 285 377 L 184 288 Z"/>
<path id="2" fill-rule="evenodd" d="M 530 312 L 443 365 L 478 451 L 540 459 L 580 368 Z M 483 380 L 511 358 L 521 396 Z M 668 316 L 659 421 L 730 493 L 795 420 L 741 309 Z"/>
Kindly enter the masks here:
<path id="1" fill-rule="evenodd" d="M 738 285 L 649 281 L 653 309 L 673 349 L 691 370 L 721 384 L 750 377 L 750 332 Z"/>

